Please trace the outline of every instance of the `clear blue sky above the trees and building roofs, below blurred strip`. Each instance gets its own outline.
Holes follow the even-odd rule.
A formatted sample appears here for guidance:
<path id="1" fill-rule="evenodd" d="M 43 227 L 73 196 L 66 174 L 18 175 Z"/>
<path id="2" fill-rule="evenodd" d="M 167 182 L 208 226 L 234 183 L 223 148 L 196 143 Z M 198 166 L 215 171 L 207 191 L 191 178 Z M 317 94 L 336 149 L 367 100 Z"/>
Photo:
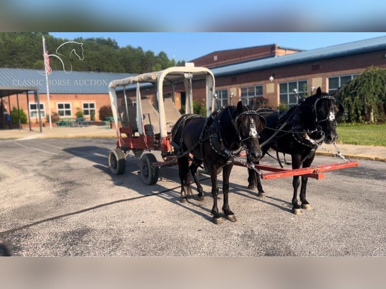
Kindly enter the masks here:
<path id="1" fill-rule="evenodd" d="M 114 39 L 120 47 L 131 45 L 164 51 L 170 59 L 189 61 L 214 51 L 277 43 L 287 48 L 311 50 L 379 36 L 386 32 L 50 32 L 72 40 L 76 37 Z"/>

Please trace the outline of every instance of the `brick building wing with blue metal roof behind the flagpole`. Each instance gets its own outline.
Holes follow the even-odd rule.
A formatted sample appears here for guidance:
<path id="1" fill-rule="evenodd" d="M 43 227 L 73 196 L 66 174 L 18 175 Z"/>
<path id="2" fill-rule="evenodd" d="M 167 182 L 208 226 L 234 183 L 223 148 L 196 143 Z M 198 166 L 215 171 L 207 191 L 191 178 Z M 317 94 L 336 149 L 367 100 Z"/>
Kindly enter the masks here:
<path id="1" fill-rule="evenodd" d="M 56 112 L 61 118 L 75 118 L 82 110 L 86 119 L 90 120 L 102 106 L 110 106 L 108 84 L 112 80 L 122 79 L 131 74 L 90 73 L 53 70 L 48 76 L 49 106 L 44 72 L 36 69 L 0 68 L 0 96 L 2 97 L 2 114 L 0 128 L 8 127 L 4 112 L 19 107 L 27 113 L 32 124 L 39 123 L 38 103 L 40 104 L 41 121 L 46 122 L 48 111 Z M 26 88 L 29 87 L 28 91 Z M 8 93 L 10 88 L 14 91 Z M 21 92 L 17 92 L 21 89 Z M 29 93 L 29 94 L 27 94 Z"/>

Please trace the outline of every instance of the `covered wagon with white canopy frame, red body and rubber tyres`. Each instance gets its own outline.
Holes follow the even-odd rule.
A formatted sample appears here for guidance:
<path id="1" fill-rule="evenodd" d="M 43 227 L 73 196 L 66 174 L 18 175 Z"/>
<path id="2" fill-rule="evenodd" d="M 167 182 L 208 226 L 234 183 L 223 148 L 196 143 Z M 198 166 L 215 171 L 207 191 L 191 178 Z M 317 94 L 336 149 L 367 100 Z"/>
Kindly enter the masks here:
<path id="1" fill-rule="evenodd" d="M 171 135 L 181 113 L 175 104 L 180 102 L 185 114 L 193 113 L 195 94 L 198 99 L 205 100 L 205 114 L 209 116 L 215 105 L 214 93 L 212 71 L 195 67 L 193 63 L 110 82 L 109 95 L 117 135 L 116 149 L 108 156 L 110 172 L 123 174 L 128 153 L 132 151 L 141 159 L 142 181 L 147 185 L 157 183 L 159 168 L 177 163 Z M 162 161 L 157 161 L 152 153 L 155 151 L 161 152 Z"/>

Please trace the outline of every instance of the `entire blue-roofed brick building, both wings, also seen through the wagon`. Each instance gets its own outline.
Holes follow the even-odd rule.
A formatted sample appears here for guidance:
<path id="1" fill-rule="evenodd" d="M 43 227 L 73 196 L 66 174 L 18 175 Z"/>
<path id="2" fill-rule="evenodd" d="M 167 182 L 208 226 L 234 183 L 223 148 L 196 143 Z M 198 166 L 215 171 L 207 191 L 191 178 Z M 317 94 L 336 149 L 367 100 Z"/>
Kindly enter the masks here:
<path id="1" fill-rule="evenodd" d="M 277 44 L 215 51 L 191 60 L 196 66 L 210 68 L 216 78 L 216 93 L 220 105 L 239 99 L 250 104 L 252 99 L 267 99 L 268 106 L 291 106 L 296 103 L 293 92 L 310 95 L 321 87 L 323 91 L 335 91 L 355 75 L 370 66 L 386 68 L 386 36 L 350 42 L 313 50 L 289 49 Z M 48 113 L 45 78 L 42 71 L 32 69 L 0 68 L 1 87 L 37 87 L 40 99 L 42 121 Z M 122 79 L 130 74 L 89 73 L 53 71 L 49 76 L 50 110 L 62 117 L 75 117 L 77 110 L 83 110 L 86 117 L 91 111 L 98 112 L 103 105 L 110 105 L 108 84 L 111 80 Z M 200 84 L 195 100 L 200 97 Z M 144 88 L 143 96 L 154 99 L 154 90 Z M 31 122 L 37 122 L 36 96 L 27 104 L 25 93 L 17 96 L 2 96 L 2 104 L 9 110 L 19 105 L 28 111 Z M 134 91 L 127 89 L 127 96 L 135 100 Z M 176 89 L 174 96 L 177 108 L 183 103 L 184 93 Z M 98 116 L 96 115 L 98 118 Z"/>

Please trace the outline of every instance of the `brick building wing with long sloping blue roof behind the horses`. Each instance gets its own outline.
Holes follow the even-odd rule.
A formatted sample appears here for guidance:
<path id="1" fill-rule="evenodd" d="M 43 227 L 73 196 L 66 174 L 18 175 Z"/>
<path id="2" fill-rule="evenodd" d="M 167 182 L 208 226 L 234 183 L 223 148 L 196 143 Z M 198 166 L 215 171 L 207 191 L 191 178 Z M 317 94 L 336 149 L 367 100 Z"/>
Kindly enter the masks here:
<path id="1" fill-rule="evenodd" d="M 227 54 L 232 55 L 232 50 Z M 200 58 L 195 61 L 200 63 Z M 208 65 L 212 66 L 214 62 L 208 62 Z M 273 55 L 212 67 L 211 70 L 216 77 L 221 105 L 229 102 L 233 92 L 234 99 L 241 99 L 244 104 L 250 104 L 254 97 L 264 97 L 270 107 L 277 108 L 280 104 L 291 106 L 296 103 L 293 89 L 300 95 L 311 95 L 317 87 L 333 92 L 370 66 L 386 68 L 386 36 L 283 56 Z"/>

